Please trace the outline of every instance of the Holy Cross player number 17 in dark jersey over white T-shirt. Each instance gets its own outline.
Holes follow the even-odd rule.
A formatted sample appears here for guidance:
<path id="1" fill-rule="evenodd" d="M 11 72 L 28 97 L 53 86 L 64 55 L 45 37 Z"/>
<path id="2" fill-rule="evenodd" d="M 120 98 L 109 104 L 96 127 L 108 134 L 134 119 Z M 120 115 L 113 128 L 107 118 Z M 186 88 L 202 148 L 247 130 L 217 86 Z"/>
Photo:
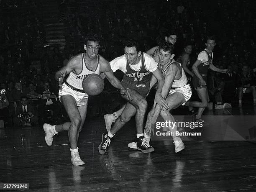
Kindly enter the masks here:
<path id="1" fill-rule="evenodd" d="M 147 101 L 145 99 L 150 87 L 152 73 L 158 80 L 158 89 L 156 90 L 155 102 L 162 109 L 169 108 L 167 102 L 161 97 L 161 90 L 164 84 L 164 78 L 157 67 L 154 59 L 146 53 L 140 51 L 138 42 L 130 39 L 125 42 L 125 54 L 110 61 L 113 72 L 120 69 L 124 75 L 122 84 L 130 90 L 133 100 L 128 100 L 120 117 L 115 120 L 113 127 L 108 133 L 102 134 L 102 142 L 99 145 L 100 154 L 105 154 L 110 144 L 111 138 L 127 123 L 134 115 L 137 128 L 137 149 L 143 153 L 154 151 L 144 138 L 144 116 L 147 110 Z M 123 97 L 127 100 L 127 97 Z"/>

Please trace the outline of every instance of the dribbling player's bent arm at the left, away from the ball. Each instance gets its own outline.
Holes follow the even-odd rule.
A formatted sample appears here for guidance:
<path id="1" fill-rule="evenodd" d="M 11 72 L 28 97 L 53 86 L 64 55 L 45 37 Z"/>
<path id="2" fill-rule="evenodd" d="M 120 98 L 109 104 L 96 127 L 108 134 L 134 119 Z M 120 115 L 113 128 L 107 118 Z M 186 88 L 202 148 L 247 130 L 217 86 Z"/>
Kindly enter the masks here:
<path id="1" fill-rule="evenodd" d="M 77 67 L 77 65 L 80 64 L 81 62 L 82 62 L 81 56 L 79 54 L 69 59 L 67 64 L 64 67 L 62 67 L 59 71 L 56 72 L 55 79 L 59 82 L 60 88 L 66 74 L 69 74 L 70 72 L 72 72 Z"/>

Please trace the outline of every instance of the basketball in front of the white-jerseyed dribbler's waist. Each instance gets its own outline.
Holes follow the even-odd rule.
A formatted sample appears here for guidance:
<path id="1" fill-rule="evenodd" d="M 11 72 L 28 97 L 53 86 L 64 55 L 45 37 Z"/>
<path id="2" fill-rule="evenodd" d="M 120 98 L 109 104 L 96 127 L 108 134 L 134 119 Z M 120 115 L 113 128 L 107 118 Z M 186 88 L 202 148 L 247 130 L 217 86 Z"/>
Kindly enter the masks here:
<path id="1" fill-rule="evenodd" d="M 82 87 L 88 95 L 99 95 L 104 89 L 104 81 L 98 74 L 88 74 L 83 79 Z"/>

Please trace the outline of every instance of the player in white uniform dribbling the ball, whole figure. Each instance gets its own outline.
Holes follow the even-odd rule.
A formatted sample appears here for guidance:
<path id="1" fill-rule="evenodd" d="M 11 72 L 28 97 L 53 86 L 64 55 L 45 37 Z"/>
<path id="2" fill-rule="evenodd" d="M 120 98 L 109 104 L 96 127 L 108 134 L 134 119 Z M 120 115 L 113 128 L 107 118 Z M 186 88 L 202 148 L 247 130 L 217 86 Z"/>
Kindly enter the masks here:
<path id="1" fill-rule="evenodd" d="M 120 93 L 127 100 L 131 100 L 129 90 L 126 90 L 120 81 L 113 75 L 110 64 L 98 54 L 100 48 L 100 39 L 95 34 L 88 34 L 84 50 L 85 53 L 72 57 L 66 66 L 62 67 L 55 74 L 59 82 L 59 100 L 63 103 L 64 108 L 69 115 L 70 122 L 61 125 L 44 124 L 46 133 L 45 141 L 51 146 L 53 136 L 61 131 L 68 131 L 71 162 L 74 166 L 83 165 L 84 161 L 80 159 L 77 141 L 79 132 L 81 132 L 87 112 L 88 95 L 82 87 L 83 78 L 88 74 L 100 74 L 104 72 L 110 83 L 120 89 Z M 63 83 L 64 77 L 69 74 L 67 81 Z"/>

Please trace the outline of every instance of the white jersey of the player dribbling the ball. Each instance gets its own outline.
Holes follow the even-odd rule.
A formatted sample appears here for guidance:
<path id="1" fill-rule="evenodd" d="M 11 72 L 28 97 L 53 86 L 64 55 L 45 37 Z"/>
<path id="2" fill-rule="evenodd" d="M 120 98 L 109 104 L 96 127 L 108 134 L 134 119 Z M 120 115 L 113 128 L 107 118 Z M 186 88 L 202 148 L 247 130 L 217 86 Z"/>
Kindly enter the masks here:
<path id="1" fill-rule="evenodd" d="M 98 59 L 97 68 L 95 69 L 95 71 L 93 71 L 86 67 L 86 64 L 84 61 L 84 54 L 85 53 L 81 54 L 81 56 L 82 56 L 82 71 L 79 74 L 76 74 L 74 71 L 72 71 L 69 74 L 69 77 L 67 78 L 67 83 L 79 90 L 83 89 L 82 82 L 83 82 L 84 77 L 86 77 L 88 74 L 93 74 L 93 73 L 98 74 L 98 75 L 100 74 L 100 55 L 97 56 L 98 57 L 97 58 Z"/>

